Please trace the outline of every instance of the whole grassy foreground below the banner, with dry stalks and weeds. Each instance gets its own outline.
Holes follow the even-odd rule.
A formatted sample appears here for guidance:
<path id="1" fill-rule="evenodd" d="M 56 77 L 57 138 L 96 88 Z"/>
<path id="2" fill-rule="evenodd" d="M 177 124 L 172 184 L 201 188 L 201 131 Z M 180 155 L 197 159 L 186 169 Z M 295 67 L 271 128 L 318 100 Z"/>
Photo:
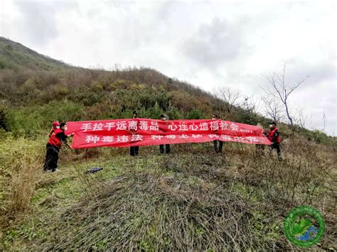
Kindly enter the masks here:
<path id="1" fill-rule="evenodd" d="M 212 143 L 62 150 L 61 172 L 43 173 L 46 139 L 0 145 L 1 244 L 6 251 L 280 251 L 293 207 L 319 209 L 336 250 L 336 150 L 292 139 L 284 159 L 255 146 Z M 301 150 L 305 150 L 301 151 Z M 102 172 L 87 175 L 94 166 Z"/>

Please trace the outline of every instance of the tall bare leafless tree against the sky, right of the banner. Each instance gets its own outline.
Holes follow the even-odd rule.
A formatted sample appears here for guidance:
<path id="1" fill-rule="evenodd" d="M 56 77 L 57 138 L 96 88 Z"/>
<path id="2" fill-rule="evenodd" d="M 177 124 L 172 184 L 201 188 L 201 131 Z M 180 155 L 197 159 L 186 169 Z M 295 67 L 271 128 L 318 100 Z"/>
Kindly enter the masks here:
<path id="1" fill-rule="evenodd" d="M 295 84 L 289 84 L 285 82 L 286 64 L 284 64 L 283 72 L 272 74 L 262 74 L 268 82 L 268 87 L 266 89 L 262 88 L 264 92 L 270 97 L 279 99 L 282 102 L 284 109 L 289 119 L 291 126 L 294 126 L 294 120 L 289 112 L 289 96 L 295 89 L 299 87 L 303 82 L 305 82 L 309 75 L 306 75 L 302 80 L 299 80 Z"/>

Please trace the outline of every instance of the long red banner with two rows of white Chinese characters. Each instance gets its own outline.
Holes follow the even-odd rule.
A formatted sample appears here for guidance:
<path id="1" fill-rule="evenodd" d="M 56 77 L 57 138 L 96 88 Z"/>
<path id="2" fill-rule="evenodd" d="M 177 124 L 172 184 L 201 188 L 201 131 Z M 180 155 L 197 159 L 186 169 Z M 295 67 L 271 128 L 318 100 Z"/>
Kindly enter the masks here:
<path id="1" fill-rule="evenodd" d="M 152 146 L 168 143 L 225 142 L 270 144 L 262 128 L 223 120 L 117 119 L 70 121 L 73 148 Z"/>

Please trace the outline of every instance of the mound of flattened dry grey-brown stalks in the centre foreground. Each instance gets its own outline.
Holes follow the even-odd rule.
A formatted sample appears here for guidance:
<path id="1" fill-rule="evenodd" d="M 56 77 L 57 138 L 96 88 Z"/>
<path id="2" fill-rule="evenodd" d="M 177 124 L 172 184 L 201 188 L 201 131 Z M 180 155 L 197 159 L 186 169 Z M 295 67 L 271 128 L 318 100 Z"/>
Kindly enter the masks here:
<path id="1" fill-rule="evenodd" d="M 63 212 L 36 249 L 257 248 L 250 206 L 225 189 L 143 172 L 126 176 Z"/>

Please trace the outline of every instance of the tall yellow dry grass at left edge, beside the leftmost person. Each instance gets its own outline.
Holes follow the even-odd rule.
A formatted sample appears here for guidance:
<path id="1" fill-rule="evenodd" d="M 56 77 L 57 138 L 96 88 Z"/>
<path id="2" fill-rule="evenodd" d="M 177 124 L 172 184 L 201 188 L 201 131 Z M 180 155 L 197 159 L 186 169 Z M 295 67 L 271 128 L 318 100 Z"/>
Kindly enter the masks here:
<path id="1" fill-rule="evenodd" d="M 6 139 L 0 144 L 1 213 L 14 214 L 30 207 L 42 175 L 43 147 L 27 139 Z"/>

